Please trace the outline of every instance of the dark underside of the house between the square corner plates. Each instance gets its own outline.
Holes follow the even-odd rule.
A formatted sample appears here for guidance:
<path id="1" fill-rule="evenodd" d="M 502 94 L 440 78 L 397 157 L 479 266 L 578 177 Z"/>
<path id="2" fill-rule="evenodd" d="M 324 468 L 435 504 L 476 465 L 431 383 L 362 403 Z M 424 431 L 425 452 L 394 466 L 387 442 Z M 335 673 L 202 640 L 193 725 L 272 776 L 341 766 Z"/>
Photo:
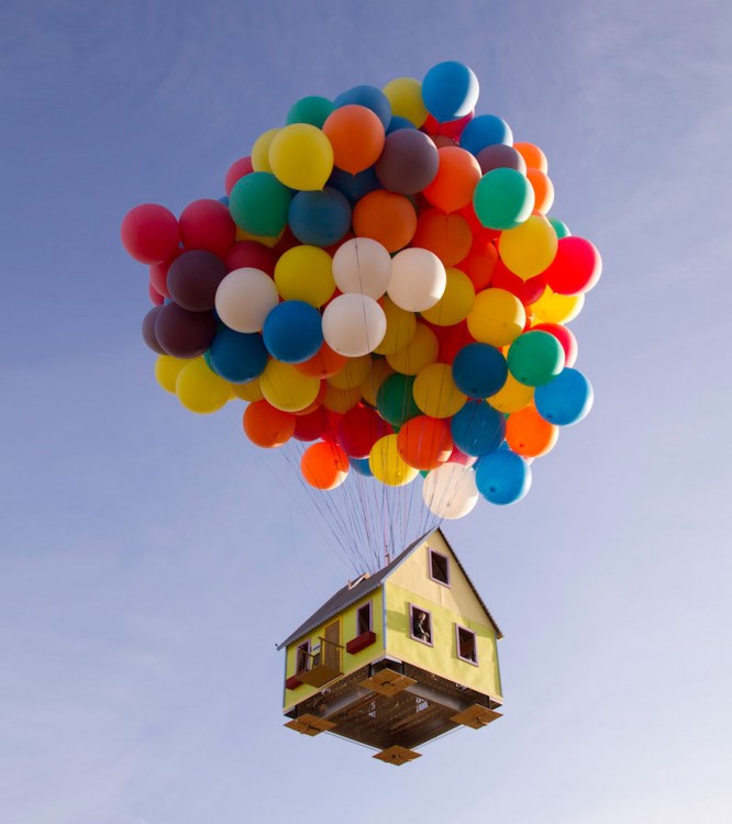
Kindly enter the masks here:
<path id="1" fill-rule="evenodd" d="M 307 699 L 288 714 L 312 713 L 326 717 L 335 724 L 329 732 L 376 749 L 393 746 L 413 749 L 461 726 L 453 721 L 456 704 L 467 708 L 490 703 L 487 695 L 408 664 L 403 665 L 404 681 L 414 683 L 415 689 L 425 688 L 430 698 L 415 694 L 409 688 L 385 695 L 359 686 L 368 682 L 373 675 L 364 667 Z"/>

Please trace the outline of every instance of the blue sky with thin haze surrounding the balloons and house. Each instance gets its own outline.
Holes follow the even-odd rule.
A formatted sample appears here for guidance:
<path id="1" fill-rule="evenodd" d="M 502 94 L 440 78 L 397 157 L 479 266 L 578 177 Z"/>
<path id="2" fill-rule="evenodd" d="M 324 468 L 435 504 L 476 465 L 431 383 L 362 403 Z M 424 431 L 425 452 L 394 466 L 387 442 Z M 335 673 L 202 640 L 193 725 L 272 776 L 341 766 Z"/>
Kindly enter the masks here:
<path id="1" fill-rule="evenodd" d="M 731 35 L 721 0 L 4 3 L 3 822 L 729 821 Z M 281 727 L 275 643 L 350 570 L 233 404 L 158 389 L 119 223 L 221 194 L 298 98 L 442 59 L 545 149 L 605 274 L 590 416 L 446 527 L 506 717 L 397 770 Z"/>

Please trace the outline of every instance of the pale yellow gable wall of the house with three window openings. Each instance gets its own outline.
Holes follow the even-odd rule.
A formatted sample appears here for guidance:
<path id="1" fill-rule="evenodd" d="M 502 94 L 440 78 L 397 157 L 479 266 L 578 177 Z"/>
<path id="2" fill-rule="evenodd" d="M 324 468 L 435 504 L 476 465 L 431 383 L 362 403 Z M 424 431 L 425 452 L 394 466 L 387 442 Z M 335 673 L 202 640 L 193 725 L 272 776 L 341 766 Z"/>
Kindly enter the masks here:
<path id="1" fill-rule="evenodd" d="M 450 558 L 450 587 L 430 578 L 428 548 Z M 496 630 L 450 547 L 439 533 L 418 547 L 385 581 L 386 653 L 451 681 L 501 698 Z M 432 642 L 411 637 L 410 604 L 432 614 Z M 457 657 L 455 624 L 476 634 L 478 666 Z"/>

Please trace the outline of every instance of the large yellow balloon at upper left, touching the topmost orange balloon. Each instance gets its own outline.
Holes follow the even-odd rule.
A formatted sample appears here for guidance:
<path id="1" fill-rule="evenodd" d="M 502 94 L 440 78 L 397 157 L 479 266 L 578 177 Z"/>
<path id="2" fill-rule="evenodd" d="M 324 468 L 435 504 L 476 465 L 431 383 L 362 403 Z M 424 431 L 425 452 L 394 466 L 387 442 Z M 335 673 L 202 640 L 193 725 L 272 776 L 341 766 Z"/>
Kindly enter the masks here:
<path id="1" fill-rule="evenodd" d="M 269 144 L 269 165 L 290 189 L 320 191 L 333 171 L 333 146 L 317 126 L 292 123 L 280 129 Z"/>

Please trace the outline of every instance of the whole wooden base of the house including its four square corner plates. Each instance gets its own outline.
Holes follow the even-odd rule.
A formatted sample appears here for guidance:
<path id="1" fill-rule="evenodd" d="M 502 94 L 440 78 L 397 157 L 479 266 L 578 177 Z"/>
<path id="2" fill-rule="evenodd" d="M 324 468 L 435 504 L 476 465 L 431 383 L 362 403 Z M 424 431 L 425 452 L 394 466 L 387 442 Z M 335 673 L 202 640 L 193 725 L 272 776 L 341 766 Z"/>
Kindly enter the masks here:
<path id="1" fill-rule="evenodd" d="M 458 725 L 486 726 L 500 717 L 495 712 L 499 704 L 428 670 L 384 659 L 301 701 L 287 713 L 291 721 L 286 726 L 304 735 L 331 732 L 374 747 L 379 750 L 376 758 L 399 765 L 419 755 L 414 747 Z"/>

